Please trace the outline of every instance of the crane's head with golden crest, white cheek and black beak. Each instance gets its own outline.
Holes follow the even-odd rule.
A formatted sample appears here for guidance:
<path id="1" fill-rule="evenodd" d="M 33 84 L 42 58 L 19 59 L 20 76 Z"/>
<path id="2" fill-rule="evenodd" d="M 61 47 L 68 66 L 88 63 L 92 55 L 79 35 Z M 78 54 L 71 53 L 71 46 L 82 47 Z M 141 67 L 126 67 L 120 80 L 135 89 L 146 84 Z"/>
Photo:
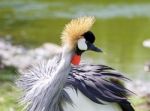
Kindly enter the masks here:
<path id="1" fill-rule="evenodd" d="M 93 50 L 100 52 L 101 50 L 94 46 L 95 36 L 90 31 L 95 22 L 92 16 L 79 17 L 72 19 L 71 22 L 66 24 L 62 32 L 62 43 L 67 46 L 68 50 Z"/>

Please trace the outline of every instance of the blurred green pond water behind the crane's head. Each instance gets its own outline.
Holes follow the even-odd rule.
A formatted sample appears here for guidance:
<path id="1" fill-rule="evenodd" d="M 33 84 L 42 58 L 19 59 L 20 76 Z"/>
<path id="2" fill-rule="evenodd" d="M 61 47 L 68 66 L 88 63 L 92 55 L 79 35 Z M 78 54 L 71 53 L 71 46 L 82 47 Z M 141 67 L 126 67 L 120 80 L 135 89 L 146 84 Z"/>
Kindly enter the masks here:
<path id="1" fill-rule="evenodd" d="M 142 42 L 150 38 L 150 2 L 84 3 L 82 1 L 0 1 L 0 36 L 12 36 L 27 47 L 44 42 L 60 44 L 59 36 L 71 18 L 95 16 L 92 31 L 105 53 L 86 53 L 95 63 L 110 65 L 131 78 L 149 80 L 143 70 L 150 49 Z"/>

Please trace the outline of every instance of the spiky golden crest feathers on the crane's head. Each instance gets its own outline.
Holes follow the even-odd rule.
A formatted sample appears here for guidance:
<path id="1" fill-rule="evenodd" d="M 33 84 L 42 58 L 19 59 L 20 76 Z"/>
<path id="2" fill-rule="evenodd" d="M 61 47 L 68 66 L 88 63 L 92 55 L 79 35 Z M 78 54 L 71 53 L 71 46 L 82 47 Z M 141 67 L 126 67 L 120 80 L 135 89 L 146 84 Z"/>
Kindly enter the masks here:
<path id="1" fill-rule="evenodd" d="M 71 49 L 74 48 L 77 40 L 80 39 L 85 32 L 91 29 L 94 22 L 95 18 L 91 16 L 79 17 L 71 20 L 70 23 L 66 24 L 64 31 L 62 32 L 62 43 L 69 45 Z"/>

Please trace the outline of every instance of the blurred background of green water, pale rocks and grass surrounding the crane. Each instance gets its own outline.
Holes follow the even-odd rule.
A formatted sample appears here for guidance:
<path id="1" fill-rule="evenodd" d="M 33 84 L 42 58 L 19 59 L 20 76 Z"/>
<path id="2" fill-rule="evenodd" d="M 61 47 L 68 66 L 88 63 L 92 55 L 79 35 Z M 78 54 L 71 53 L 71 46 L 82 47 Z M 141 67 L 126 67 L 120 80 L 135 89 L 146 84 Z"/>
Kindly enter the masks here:
<path id="1" fill-rule="evenodd" d="M 84 62 L 124 73 L 134 107 L 150 111 L 149 0 L 0 0 L 0 111 L 21 110 L 18 72 L 57 54 L 64 25 L 85 15 L 96 17 L 92 31 L 104 53 L 87 52 Z"/>

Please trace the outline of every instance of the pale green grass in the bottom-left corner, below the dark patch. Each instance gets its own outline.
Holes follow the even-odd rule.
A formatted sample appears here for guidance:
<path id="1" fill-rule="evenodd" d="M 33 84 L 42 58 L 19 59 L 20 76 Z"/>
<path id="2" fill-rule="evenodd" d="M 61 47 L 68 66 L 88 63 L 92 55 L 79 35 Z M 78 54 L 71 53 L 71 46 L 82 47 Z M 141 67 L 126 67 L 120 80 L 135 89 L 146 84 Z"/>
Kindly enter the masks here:
<path id="1" fill-rule="evenodd" d="M 0 83 L 0 111 L 21 111 L 18 104 L 19 91 L 12 82 Z"/>

